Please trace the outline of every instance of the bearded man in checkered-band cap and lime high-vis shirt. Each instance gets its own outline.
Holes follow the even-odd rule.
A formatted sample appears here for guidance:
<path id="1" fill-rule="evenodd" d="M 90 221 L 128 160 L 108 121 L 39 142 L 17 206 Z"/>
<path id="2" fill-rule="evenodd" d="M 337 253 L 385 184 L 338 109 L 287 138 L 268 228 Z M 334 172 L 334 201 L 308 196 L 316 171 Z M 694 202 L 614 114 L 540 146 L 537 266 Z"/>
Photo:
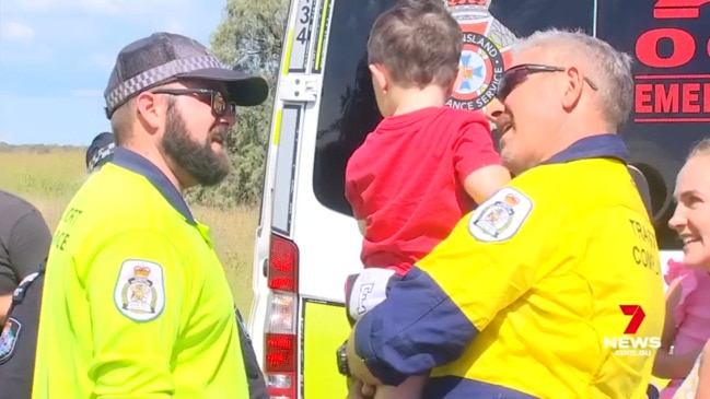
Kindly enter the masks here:
<path id="1" fill-rule="evenodd" d="M 232 292 L 183 191 L 228 175 L 236 106 L 267 92 L 185 36 L 118 54 L 105 91 L 117 145 L 55 232 L 32 398 L 249 396 Z"/>

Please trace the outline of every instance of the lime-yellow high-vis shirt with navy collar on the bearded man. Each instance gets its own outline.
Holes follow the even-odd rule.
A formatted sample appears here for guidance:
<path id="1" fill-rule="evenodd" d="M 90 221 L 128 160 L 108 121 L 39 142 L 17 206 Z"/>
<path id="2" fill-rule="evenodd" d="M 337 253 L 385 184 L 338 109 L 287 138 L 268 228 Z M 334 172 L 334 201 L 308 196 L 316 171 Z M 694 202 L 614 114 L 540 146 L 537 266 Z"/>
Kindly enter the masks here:
<path id="1" fill-rule="evenodd" d="M 126 149 L 57 227 L 32 398 L 247 398 L 232 292 L 209 237 Z"/>

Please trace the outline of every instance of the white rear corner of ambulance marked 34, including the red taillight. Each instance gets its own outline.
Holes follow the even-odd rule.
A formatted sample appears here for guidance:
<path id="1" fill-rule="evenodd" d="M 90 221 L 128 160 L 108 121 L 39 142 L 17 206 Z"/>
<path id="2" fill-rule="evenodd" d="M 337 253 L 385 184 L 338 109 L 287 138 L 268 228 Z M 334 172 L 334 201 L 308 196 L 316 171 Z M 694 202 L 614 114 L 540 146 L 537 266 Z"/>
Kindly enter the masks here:
<path id="1" fill-rule="evenodd" d="M 273 398 L 300 397 L 299 248 L 294 213 L 299 160 L 306 124 L 321 93 L 312 73 L 315 42 L 322 36 L 317 8 L 328 0 L 293 0 L 273 99 L 261 210 L 256 230 L 248 331 Z M 311 118 L 313 119 L 313 118 Z"/>

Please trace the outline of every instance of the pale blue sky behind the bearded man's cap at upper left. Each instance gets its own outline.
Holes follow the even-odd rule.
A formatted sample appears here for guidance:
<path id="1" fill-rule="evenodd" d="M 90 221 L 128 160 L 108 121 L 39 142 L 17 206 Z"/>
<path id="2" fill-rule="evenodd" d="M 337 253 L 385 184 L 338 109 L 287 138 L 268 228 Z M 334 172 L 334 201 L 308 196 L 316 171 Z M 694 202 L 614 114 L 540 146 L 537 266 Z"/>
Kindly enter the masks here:
<path id="1" fill-rule="evenodd" d="M 0 142 L 88 145 L 109 129 L 116 54 L 164 31 L 209 46 L 225 0 L 0 0 Z"/>

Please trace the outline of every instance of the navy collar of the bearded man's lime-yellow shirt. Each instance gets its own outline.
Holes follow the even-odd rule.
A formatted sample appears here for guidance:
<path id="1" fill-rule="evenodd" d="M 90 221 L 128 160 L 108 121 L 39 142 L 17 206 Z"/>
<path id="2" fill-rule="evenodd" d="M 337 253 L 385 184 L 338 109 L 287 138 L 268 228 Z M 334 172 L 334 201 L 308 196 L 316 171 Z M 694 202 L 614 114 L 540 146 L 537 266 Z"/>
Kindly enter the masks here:
<path id="1" fill-rule="evenodd" d="M 165 200 L 183 214 L 187 222 L 196 224 L 183 195 L 152 162 L 133 151 L 119 146 L 114 152 L 112 163 L 144 176 L 163 195 Z"/>

